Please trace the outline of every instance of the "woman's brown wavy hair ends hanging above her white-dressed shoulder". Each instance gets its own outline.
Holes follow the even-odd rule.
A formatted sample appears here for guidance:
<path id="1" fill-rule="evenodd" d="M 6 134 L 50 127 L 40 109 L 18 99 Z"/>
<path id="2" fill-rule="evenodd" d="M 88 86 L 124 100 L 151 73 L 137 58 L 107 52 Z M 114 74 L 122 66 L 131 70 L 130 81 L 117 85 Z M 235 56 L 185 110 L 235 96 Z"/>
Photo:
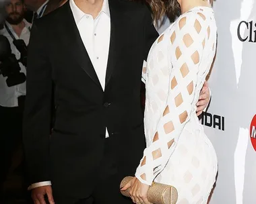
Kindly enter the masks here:
<path id="1" fill-rule="evenodd" d="M 174 21 L 181 14 L 181 7 L 177 0 L 147 0 L 147 2 L 152 9 L 154 20 L 167 15 L 170 21 Z"/>

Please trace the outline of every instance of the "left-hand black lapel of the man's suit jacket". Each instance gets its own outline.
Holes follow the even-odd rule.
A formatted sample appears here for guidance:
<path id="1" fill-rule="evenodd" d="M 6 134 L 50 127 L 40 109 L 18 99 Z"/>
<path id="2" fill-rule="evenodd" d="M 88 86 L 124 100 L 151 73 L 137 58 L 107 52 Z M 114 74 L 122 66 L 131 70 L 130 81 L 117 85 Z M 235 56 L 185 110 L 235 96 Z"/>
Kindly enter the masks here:
<path id="1" fill-rule="evenodd" d="M 90 60 L 88 52 L 84 47 L 82 38 L 75 24 L 75 19 L 73 18 L 73 13 L 71 11 L 69 1 L 63 5 L 63 19 L 61 22 L 61 28 L 63 29 L 61 38 L 63 38 L 63 43 L 66 44 L 67 49 L 70 51 L 71 56 L 76 60 L 82 69 L 89 75 L 89 77 L 102 89 L 100 81 L 97 77 L 97 74 L 94 70 L 94 66 Z M 60 16 L 59 16 L 60 17 Z M 103 91 L 103 90 L 102 90 Z"/>

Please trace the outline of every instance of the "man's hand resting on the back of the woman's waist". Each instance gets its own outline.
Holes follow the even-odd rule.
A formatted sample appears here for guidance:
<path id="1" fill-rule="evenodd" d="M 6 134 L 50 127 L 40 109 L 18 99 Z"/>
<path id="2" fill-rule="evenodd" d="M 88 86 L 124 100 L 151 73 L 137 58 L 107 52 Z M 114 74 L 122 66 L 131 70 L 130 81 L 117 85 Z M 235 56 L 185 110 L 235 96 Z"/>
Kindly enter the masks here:
<path id="1" fill-rule="evenodd" d="M 199 101 L 197 102 L 197 116 L 201 115 L 203 113 L 203 110 L 207 105 L 209 104 L 210 101 L 210 89 L 208 86 L 207 81 L 203 84 L 203 88 L 201 89 L 200 96 L 199 96 Z"/>

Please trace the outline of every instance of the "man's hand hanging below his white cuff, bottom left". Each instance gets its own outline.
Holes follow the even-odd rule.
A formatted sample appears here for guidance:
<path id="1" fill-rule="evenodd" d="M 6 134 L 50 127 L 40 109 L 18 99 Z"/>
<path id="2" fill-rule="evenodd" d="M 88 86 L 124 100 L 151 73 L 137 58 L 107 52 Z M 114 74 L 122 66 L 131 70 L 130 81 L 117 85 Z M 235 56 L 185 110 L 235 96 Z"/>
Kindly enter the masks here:
<path id="1" fill-rule="evenodd" d="M 48 197 L 50 204 L 54 204 L 53 201 L 53 191 L 51 186 L 37 187 L 32 189 L 32 199 L 34 204 L 46 204 L 44 200 L 44 195 Z"/>

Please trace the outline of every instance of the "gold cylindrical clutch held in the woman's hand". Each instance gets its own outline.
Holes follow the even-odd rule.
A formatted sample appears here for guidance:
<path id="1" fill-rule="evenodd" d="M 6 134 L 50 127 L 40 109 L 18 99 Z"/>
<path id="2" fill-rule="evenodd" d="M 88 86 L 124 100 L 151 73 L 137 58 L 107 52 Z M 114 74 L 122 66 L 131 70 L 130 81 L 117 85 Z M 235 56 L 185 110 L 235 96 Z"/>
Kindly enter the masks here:
<path id="1" fill-rule="evenodd" d="M 124 187 L 133 177 L 127 176 L 123 178 L 120 187 Z M 130 197 L 129 189 L 121 191 L 121 193 Z M 175 204 L 178 200 L 178 191 L 172 186 L 164 185 L 162 183 L 152 183 L 152 186 L 148 190 L 148 201 L 154 204 Z"/>

